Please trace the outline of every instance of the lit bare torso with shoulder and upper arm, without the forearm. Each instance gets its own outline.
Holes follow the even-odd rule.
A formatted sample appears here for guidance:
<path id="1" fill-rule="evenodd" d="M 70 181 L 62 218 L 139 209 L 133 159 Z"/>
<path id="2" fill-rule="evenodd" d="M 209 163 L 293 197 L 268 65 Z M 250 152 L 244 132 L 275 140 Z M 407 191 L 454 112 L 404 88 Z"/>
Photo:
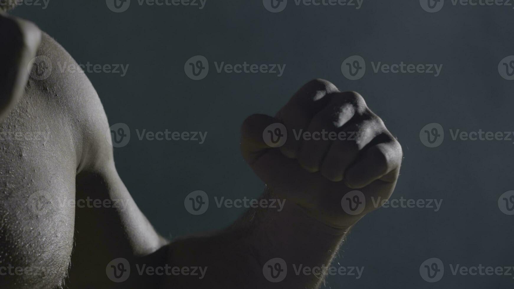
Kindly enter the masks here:
<path id="1" fill-rule="evenodd" d="M 105 275 L 109 261 L 148 258 L 166 241 L 116 173 L 108 122 L 85 74 L 58 69 L 75 61 L 46 34 L 41 55 L 51 74 L 30 78 L 0 125 L 0 287 L 115 287 Z M 128 207 L 75 205 L 87 199 Z"/>

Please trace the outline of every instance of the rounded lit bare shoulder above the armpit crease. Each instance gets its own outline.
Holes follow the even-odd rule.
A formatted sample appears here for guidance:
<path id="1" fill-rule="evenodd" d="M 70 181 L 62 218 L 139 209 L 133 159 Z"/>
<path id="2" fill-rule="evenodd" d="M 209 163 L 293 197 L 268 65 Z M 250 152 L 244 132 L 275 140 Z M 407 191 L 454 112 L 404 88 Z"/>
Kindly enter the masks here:
<path id="1" fill-rule="evenodd" d="M 46 33 L 27 89 L 41 94 L 45 110 L 68 125 L 77 153 L 77 172 L 113 161 L 107 116 L 97 91 L 79 63 Z"/>

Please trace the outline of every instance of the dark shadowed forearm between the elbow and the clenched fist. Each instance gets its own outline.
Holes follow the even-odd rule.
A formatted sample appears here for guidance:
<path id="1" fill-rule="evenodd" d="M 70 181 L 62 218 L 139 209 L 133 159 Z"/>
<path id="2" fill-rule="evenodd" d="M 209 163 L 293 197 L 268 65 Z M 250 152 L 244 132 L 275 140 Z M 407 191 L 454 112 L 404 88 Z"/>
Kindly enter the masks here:
<path id="1" fill-rule="evenodd" d="M 266 192 L 263 198 L 274 197 Z M 327 266 L 346 232 L 308 217 L 288 200 L 282 210 L 251 209 L 222 232 L 172 242 L 170 266 L 203 266 L 207 269 L 202 279 L 200 276 L 169 276 L 165 287 L 317 288 L 323 276 L 304 274 L 299 268 Z M 276 265 L 276 258 L 284 262 Z M 273 278 L 270 270 L 284 269 L 284 265 L 286 277 L 280 282 L 272 282 L 282 279 L 284 274 L 279 276 L 275 271 L 277 278 Z"/>

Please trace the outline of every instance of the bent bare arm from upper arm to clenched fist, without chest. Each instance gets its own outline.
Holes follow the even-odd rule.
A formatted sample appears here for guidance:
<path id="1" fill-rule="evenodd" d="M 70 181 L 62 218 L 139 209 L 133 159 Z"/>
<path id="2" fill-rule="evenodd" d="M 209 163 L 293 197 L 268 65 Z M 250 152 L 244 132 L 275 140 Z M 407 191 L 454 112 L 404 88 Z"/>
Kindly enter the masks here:
<path id="1" fill-rule="evenodd" d="M 89 109 L 93 112 L 100 114 L 95 119 L 104 119 L 103 110 Z M 264 137 L 270 128 L 276 132 L 276 123 L 284 124 L 288 134 L 280 148 L 270 147 Z M 78 238 L 77 251 L 83 254 L 78 260 L 87 262 L 79 262 L 75 271 L 72 267 L 71 279 L 81 280 L 85 270 L 89 275 L 82 276 L 91 276 L 87 280 L 108 284 L 103 265 L 123 257 L 128 264 L 112 264 L 120 276 L 131 268 L 128 281 L 112 283 L 122 287 L 162 282 L 163 288 L 317 288 L 324 276 L 298 268 L 332 261 L 348 230 L 376 209 L 371 198 L 392 194 L 402 157 L 396 139 L 359 94 L 341 93 L 326 81 L 309 82 L 275 118 L 256 114 L 242 126 L 243 157 L 267 185 L 262 198 L 285 202 L 283 210 L 251 209 L 229 228 L 164 245 L 116 173 L 112 147 L 104 140 L 106 120 L 90 125 L 94 145 L 88 147 L 94 149 L 82 153 L 89 161 L 80 169 L 77 194 L 84 190 L 83 196 L 94 192 L 98 198 L 130 200 L 131 209 L 77 210 L 76 225 L 85 228 L 87 222 L 90 232 Z M 313 137 L 322 130 L 344 134 L 336 140 L 297 139 L 301 129 Z M 158 267 L 161 275 L 155 274 Z"/>

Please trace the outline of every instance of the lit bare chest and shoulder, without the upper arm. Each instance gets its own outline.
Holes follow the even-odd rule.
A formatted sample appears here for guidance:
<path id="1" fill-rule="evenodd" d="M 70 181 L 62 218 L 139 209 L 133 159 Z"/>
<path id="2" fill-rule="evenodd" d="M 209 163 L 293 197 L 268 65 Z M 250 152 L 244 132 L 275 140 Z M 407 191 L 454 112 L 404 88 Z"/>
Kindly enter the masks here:
<path id="1" fill-rule="evenodd" d="M 65 204 L 76 198 L 77 174 L 112 164 L 112 146 L 93 85 L 84 73 L 62 70 L 77 65 L 69 53 L 42 33 L 33 62 L 23 93 L 0 123 L 0 247 L 7 248 L 0 266 L 48 268 L 39 285 L 50 287 L 69 265 L 76 212 Z M 38 282 L 8 277 L 0 287 Z"/>

